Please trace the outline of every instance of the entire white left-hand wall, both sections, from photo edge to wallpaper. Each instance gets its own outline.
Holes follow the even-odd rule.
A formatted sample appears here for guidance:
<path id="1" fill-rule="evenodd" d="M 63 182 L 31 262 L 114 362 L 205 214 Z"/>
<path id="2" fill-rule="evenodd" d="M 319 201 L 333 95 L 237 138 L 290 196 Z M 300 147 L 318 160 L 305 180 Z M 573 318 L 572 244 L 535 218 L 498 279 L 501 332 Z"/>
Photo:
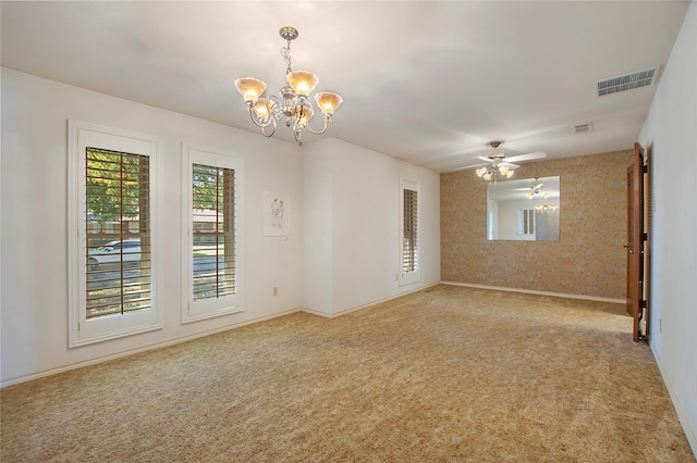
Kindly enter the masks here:
<path id="1" fill-rule="evenodd" d="M 440 177 L 351 143 L 296 143 L 2 68 L 0 384 L 307 308 L 338 313 L 440 280 Z M 164 327 L 68 348 L 68 121 L 163 140 L 158 252 Z M 181 323 L 181 145 L 244 157 L 244 312 Z M 399 286 L 400 178 L 420 183 L 419 283 Z M 290 239 L 262 234 L 264 191 L 290 193 Z M 279 295 L 272 296 L 278 287 Z"/>

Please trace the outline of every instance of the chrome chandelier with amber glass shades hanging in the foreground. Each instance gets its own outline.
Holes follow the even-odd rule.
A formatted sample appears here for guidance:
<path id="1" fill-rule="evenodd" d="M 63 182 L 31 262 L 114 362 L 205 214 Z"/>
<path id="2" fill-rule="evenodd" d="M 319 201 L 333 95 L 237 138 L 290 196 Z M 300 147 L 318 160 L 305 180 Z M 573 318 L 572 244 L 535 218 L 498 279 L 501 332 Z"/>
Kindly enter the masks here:
<path id="1" fill-rule="evenodd" d="M 307 128 L 315 135 L 323 134 L 343 99 L 330 91 L 315 95 L 315 102 L 322 112 L 325 126 L 320 130 L 315 130 L 309 126 L 315 110 L 308 101 L 308 97 L 319 84 L 319 77 L 309 71 L 293 71 L 291 67 L 291 41 L 297 38 L 297 29 L 282 27 L 279 34 L 286 42 L 285 47 L 281 48 L 281 57 L 286 65 L 285 80 L 288 85 L 279 90 L 281 98 L 274 95 L 262 97 L 266 83 L 255 77 L 241 77 L 234 84 L 244 98 L 252 122 L 261 128 L 261 134 L 265 137 L 273 136 L 277 121 L 285 117 L 285 126 L 293 129 L 295 141 L 303 145 L 303 130 Z"/>

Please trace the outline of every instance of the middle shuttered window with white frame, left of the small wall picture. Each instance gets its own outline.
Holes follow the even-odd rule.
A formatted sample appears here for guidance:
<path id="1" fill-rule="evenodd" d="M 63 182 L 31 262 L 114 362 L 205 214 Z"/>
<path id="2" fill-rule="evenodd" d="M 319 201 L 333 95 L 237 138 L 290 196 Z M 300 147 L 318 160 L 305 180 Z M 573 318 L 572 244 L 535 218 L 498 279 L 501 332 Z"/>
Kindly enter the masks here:
<path id="1" fill-rule="evenodd" d="M 242 158 L 183 146 L 182 321 L 242 310 Z"/>

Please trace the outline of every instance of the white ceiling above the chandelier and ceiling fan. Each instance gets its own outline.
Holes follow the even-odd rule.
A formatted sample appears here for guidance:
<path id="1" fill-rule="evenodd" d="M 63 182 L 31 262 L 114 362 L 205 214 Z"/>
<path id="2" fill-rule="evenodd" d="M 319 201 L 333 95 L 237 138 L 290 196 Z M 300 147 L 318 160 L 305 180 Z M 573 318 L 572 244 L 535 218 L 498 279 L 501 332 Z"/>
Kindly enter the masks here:
<path id="1" fill-rule="evenodd" d="M 2 2 L 2 66 L 256 132 L 236 77 L 315 72 L 344 98 L 321 137 L 449 172 L 487 143 L 564 158 L 629 149 L 688 1 Z M 662 71 L 662 67 L 661 67 Z M 659 74 L 660 82 L 660 74 Z M 313 121 L 314 123 L 320 122 Z M 575 134 L 577 124 L 594 130 Z M 282 125 L 276 137 L 292 139 Z"/>

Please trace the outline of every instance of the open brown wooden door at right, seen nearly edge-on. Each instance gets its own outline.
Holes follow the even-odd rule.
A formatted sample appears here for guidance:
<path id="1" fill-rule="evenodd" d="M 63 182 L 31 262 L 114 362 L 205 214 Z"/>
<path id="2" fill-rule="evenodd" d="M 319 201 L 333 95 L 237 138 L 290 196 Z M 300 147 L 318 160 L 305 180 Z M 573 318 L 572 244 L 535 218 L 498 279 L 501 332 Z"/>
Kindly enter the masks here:
<path id="1" fill-rule="evenodd" d="M 626 308 L 633 318 L 632 339 L 644 338 L 644 150 L 634 143 L 634 164 L 627 168 L 627 293 Z"/>

